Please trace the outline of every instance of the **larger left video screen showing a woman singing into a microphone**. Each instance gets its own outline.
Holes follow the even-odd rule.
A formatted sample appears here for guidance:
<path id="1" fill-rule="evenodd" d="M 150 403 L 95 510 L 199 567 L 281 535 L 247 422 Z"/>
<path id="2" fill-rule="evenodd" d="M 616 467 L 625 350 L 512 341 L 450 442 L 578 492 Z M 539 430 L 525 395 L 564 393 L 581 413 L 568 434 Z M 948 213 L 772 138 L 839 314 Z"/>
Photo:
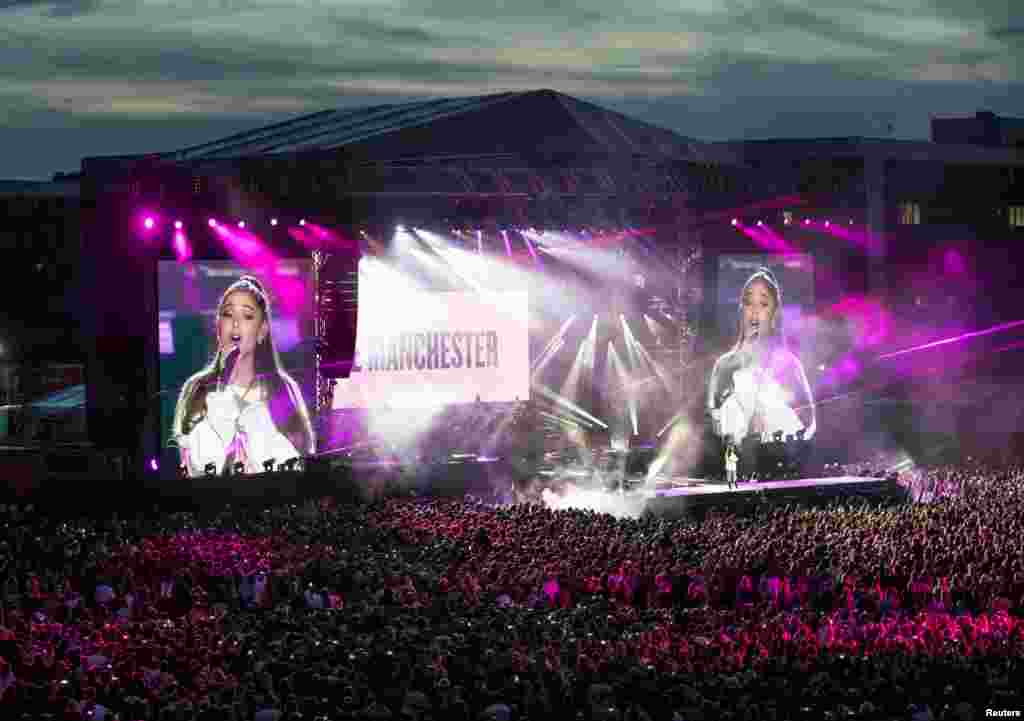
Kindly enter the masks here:
<path id="1" fill-rule="evenodd" d="M 313 453 L 311 261 L 162 261 L 158 278 L 162 437 L 188 474 Z"/>

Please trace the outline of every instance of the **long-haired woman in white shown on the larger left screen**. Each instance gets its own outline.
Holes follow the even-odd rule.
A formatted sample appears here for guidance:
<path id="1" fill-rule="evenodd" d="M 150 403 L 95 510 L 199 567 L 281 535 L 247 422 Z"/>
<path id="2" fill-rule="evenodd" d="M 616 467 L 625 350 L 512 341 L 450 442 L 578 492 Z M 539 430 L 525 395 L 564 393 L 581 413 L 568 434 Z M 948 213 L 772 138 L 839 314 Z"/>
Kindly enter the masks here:
<path id="1" fill-rule="evenodd" d="M 282 368 L 262 284 L 243 275 L 217 307 L 217 350 L 181 388 L 171 429 L 191 477 L 243 463 L 261 473 L 313 452 L 312 425 L 298 384 Z"/>

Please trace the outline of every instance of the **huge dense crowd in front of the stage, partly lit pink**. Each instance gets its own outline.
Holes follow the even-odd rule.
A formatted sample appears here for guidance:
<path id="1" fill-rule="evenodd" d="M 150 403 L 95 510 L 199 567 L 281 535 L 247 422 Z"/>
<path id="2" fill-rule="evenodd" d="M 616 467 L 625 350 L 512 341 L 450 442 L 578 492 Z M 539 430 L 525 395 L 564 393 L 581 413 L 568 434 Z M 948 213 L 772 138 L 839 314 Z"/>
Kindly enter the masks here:
<path id="1" fill-rule="evenodd" d="M 1024 469 L 911 476 L 958 490 L 699 521 L 409 497 L 0 508 L 0 718 L 1022 710 Z"/>

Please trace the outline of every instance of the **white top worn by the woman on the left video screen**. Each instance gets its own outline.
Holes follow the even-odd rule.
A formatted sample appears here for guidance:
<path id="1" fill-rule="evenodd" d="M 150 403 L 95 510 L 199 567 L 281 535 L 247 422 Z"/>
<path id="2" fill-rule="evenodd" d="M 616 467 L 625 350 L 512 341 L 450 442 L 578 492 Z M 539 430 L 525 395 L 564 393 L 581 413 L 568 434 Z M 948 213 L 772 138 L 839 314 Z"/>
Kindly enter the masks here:
<path id="1" fill-rule="evenodd" d="M 278 465 L 299 457 L 292 441 L 274 425 L 266 401 L 243 398 L 245 391 L 233 385 L 211 391 L 206 396 L 206 418 L 189 433 L 178 436 L 178 447 L 187 451 L 190 477 L 204 475 L 210 463 L 218 474 L 223 473 L 228 453 L 239 448 L 245 450 L 246 473 L 262 473 L 263 463 L 270 459 Z"/>

